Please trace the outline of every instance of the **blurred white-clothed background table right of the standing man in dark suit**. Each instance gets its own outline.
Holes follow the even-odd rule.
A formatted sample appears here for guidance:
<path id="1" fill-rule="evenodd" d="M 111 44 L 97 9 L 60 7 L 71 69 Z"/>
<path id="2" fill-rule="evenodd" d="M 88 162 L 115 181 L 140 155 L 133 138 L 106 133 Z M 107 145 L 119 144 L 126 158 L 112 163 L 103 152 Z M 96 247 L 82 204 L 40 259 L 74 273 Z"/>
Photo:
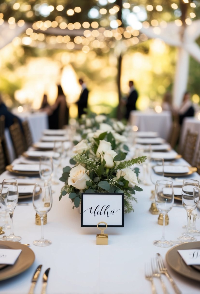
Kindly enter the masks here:
<path id="1" fill-rule="evenodd" d="M 157 132 L 161 138 L 167 140 L 172 126 L 172 116 L 170 111 L 157 113 L 152 110 L 133 110 L 130 112 L 130 124 L 137 126 L 138 131 Z"/>

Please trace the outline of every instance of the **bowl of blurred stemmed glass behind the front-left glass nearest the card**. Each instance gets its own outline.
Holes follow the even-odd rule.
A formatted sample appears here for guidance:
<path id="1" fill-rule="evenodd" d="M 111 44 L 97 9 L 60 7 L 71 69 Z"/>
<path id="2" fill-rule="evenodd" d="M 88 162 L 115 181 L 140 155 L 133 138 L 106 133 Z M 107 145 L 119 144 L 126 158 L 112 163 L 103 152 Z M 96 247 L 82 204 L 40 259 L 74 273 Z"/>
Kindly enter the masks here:
<path id="1" fill-rule="evenodd" d="M 51 157 L 40 157 L 40 178 L 43 181 L 50 181 L 53 172 L 53 162 Z"/>

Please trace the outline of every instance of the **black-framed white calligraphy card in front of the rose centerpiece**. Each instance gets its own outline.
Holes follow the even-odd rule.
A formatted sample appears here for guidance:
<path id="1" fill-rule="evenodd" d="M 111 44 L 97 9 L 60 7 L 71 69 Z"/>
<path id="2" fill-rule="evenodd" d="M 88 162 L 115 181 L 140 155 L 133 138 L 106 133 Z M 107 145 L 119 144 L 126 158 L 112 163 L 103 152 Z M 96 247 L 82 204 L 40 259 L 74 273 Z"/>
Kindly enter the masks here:
<path id="1" fill-rule="evenodd" d="M 101 221 L 108 227 L 124 226 L 123 193 L 82 193 L 81 208 L 82 227 L 96 227 Z"/>

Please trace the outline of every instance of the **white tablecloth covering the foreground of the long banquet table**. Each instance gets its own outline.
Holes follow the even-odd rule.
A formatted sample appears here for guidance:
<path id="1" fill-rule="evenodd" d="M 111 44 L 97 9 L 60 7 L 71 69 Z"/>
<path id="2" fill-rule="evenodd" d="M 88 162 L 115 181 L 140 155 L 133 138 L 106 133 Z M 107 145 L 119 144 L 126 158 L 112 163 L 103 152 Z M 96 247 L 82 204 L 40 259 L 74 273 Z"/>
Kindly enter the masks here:
<path id="1" fill-rule="evenodd" d="M 183 159 L 177 164 L 185 164 Z M 9 178 L 4 172 L 0 176 Z M 12 176 L 13 177 L 13 176 Z M 189 176 L 200 180 L 196 173 Z M 24 273 L 0 282 L 0 293 L 25 294 L 30 288 L 33 273 L 39 264 L 43 264 L 41 273 L 50 267 L 47 293 L 49 294 L 150 294 L 151 284 L 145 280 L 146 262 L 160 253 L 163 258 L 170 248 L 159 248 L 152 244 L 160 239 L 162 226 L 157 224 L 157 215 L 149 212 L 150 196 L 154 186 L 142 186 L 143 192 L 136 192 L 138 203 L 134 203 L 134 213 L 124 217 L 124 228 L 108 228 L 109 245 L 96 245 L 96 228 L 81 228 L 79 209 L 72 210 L 68 196 L 58 201 L 63 183 L 52 186 L 53 206 L 48 213 L 48 223 L 44 226 L 44 237 L 52 245 L 40 248 L 33 240 L 40 237 L 40 227 L 35 225 L 35 211 L 31 199 L 28 206 L 17 206 L 14 211 L 14 233 L 22 236 L 21 243 L 31 244 L 35 253 L 33 265 Z M 187 223 L 183 207 L 173 207 L 168 213 L 170 223 L 166 226 L 167 240 L 176 240 Z M 200 230 L 200 219 L 196 221 Z M 9 230 L 6 230 L 6 234 Z M 200 241 L 200 237 L 197 237 Z M 166 261 L 165 264 L 167 265 Z M 183 294 L 199 293 L 199 283 L 175 273 L 167 268 Z M 41 293 L 42 274 L 36 284 L 35 293 Z M 165 278 L 165 277 L 164 277 Z M 165 280 L 169 293 L 174 293 L 168 280 Z M 160 281 L 155 279 L 157 293 L 162 293 Z"/>

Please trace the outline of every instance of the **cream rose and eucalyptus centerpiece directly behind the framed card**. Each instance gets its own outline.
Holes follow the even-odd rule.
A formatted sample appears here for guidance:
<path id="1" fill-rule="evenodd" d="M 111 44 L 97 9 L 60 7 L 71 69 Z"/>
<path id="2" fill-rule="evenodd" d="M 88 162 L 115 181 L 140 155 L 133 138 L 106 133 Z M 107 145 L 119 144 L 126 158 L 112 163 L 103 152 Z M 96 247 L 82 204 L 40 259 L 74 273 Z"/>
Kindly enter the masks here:
<path id="1" fill-rule="evenodd" d="M 119 135 L 121 136 L 121 135 Z M 124 193 L 124 212 L 133 210 L 135 191 L 143 191 L 138 186 L 139 168 L 132 170 L 135 163 L 143 163 L 146 156 L 125 161 L 127 146 L 121 150 L 121 142 L 116 142 L 111 131 L 101 132 L 98 137 L 82 140 L 74 146 L 74 155 L 60 178 L 65 182 L 59 200 L 66 194 L 79 207 L 81 194 L 86 193 Z M 125 149 L 125 150 L 124 150 Z"/>

